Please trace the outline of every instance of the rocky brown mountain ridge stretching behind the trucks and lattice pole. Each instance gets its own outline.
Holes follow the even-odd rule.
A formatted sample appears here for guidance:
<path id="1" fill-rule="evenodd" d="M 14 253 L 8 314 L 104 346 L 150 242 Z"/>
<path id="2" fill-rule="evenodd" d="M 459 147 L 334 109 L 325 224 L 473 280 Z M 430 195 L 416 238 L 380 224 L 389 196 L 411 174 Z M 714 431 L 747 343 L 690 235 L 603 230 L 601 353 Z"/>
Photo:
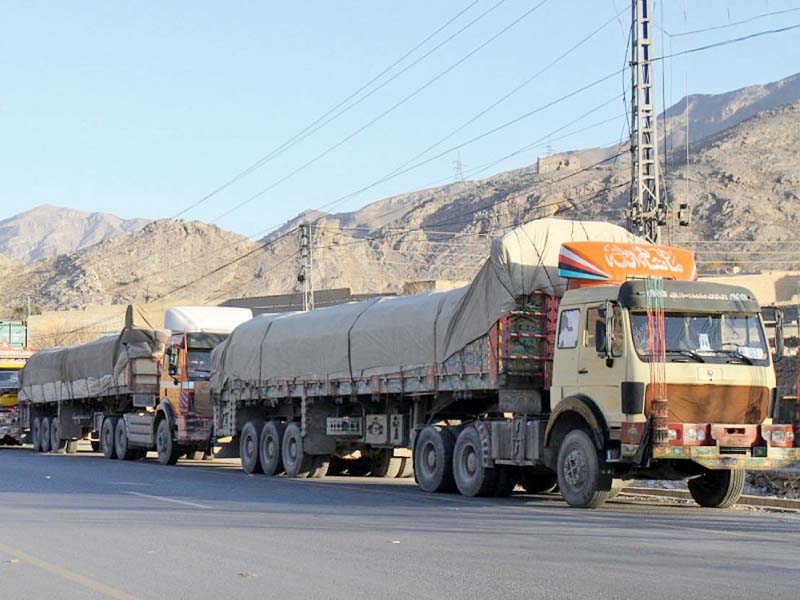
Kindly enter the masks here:
<path id="1" fill-rule="evenodd" d="M 770 97 L 777 102 L 782 96 L 775 90 L 791 85 L 763 87 L 773 90 Z M 739 92 L 729 96 L 727 109 L 716 97 L 698 100 L 698 106 L 713 106 L 705 114 L 728 114 L 733 122 L 736 113 L 753 110 L 743 108 Z M 776 256 L 770 244 L 783 241 L 790 251 L 794 232 L 800 230 L 800 99 L 707 130 L 713 133 L 692 143 L 688 164 L 681 148 L 666 161 L 668 196 L 673 202 L 688 201 L 693 215 L 688 228 L 668 227 L 669 238 L 695 248 L 706 272 L 793 266 Z M 587 152 L 570 156 L 594 156 L 599 150 Z M 572 164 L 541 173 L 531 165 L 399 194 L 354 212 L 303 213 L 283 231 L 314 221 L 318 290 L 401 292 L 411 281 L 468 280 L 487 256 L 491 238 L 516 223 L 556 216 L 624 224 L 629 160 L 623 153 L 591 168 L 587 163 L 593 161 L 585 160 L 583 168 Z M 48 310 L 165 297 L 219 303 L 295 290 L 299 236 L 277 239 L 273 234 L 268 240 L 262 248 L 262 243 L 212 225 L 163 220 L 29 265 L 0 263 L 5 283 L 0 315 L 25 296 Z"/>

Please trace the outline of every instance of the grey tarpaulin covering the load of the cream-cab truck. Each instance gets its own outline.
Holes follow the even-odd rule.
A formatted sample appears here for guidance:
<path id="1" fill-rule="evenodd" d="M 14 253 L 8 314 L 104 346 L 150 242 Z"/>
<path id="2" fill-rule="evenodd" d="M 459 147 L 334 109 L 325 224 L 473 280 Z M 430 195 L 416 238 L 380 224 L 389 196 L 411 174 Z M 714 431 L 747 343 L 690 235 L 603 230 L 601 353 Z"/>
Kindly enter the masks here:
<path id="1" fill-rule="evenodd" d="M 214 349 L 212 387 L 270 381 L 324 381 L 399 373 L 443 363 L 485 335 L 533 291 L 561 297 L 561 244 L 641 242 L 594 221 L 541 219 L 492 241 L 472 283 L 447 292 L 378 298 L 309 313 L 260 315 Z"/>

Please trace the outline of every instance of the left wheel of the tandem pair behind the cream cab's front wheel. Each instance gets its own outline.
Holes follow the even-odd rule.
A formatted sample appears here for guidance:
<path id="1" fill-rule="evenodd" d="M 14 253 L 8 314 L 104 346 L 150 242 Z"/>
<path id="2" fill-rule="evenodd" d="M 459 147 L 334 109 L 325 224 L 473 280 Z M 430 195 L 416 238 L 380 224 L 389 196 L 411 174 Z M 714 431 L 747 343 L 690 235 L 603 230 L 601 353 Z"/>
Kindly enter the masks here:
<path id="1" fill-rule="evenodd" d="M 414 475 L 426 492 L 452 492 L 456 487 L 453 478 L 453 447 L 456 440 L 447 427 L 426 425 L 417 435 L 414 448 Z"/>

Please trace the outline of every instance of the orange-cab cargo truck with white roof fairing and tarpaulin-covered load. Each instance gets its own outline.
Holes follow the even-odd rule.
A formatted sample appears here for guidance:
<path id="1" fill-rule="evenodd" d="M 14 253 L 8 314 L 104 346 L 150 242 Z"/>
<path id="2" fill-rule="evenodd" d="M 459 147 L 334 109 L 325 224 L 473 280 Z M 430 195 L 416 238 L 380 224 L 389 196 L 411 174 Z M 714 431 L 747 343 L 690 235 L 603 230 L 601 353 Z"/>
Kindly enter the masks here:
<path id="1" fill-rule="evenodd" d="M 75 452 L 89 439 L 106 458 L 133 460 L 155 450 L 162 464 L 209 451 L 211 406 L 195 394 L 208 385 L 213 346 L 251 316 L 231 308 L 169 309 L 161 330 L 135 327 L 129 307 L 119 335 L 37 353 L 20 390 L 34 450 Z"/>

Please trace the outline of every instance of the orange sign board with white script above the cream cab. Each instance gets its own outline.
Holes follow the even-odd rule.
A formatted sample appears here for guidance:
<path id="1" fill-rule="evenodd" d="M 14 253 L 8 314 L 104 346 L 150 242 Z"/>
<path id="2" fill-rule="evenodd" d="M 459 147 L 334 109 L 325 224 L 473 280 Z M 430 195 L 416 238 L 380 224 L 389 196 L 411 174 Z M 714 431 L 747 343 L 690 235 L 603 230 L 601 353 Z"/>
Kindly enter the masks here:
<path id="1" fill-rule="evenodd" d="M 571 288 L 645 277 L 694 281 L 697 265 L 693 252 L 673 246 L 568 242 L 561 246 L 558 274 L 571 280 Z"/>

